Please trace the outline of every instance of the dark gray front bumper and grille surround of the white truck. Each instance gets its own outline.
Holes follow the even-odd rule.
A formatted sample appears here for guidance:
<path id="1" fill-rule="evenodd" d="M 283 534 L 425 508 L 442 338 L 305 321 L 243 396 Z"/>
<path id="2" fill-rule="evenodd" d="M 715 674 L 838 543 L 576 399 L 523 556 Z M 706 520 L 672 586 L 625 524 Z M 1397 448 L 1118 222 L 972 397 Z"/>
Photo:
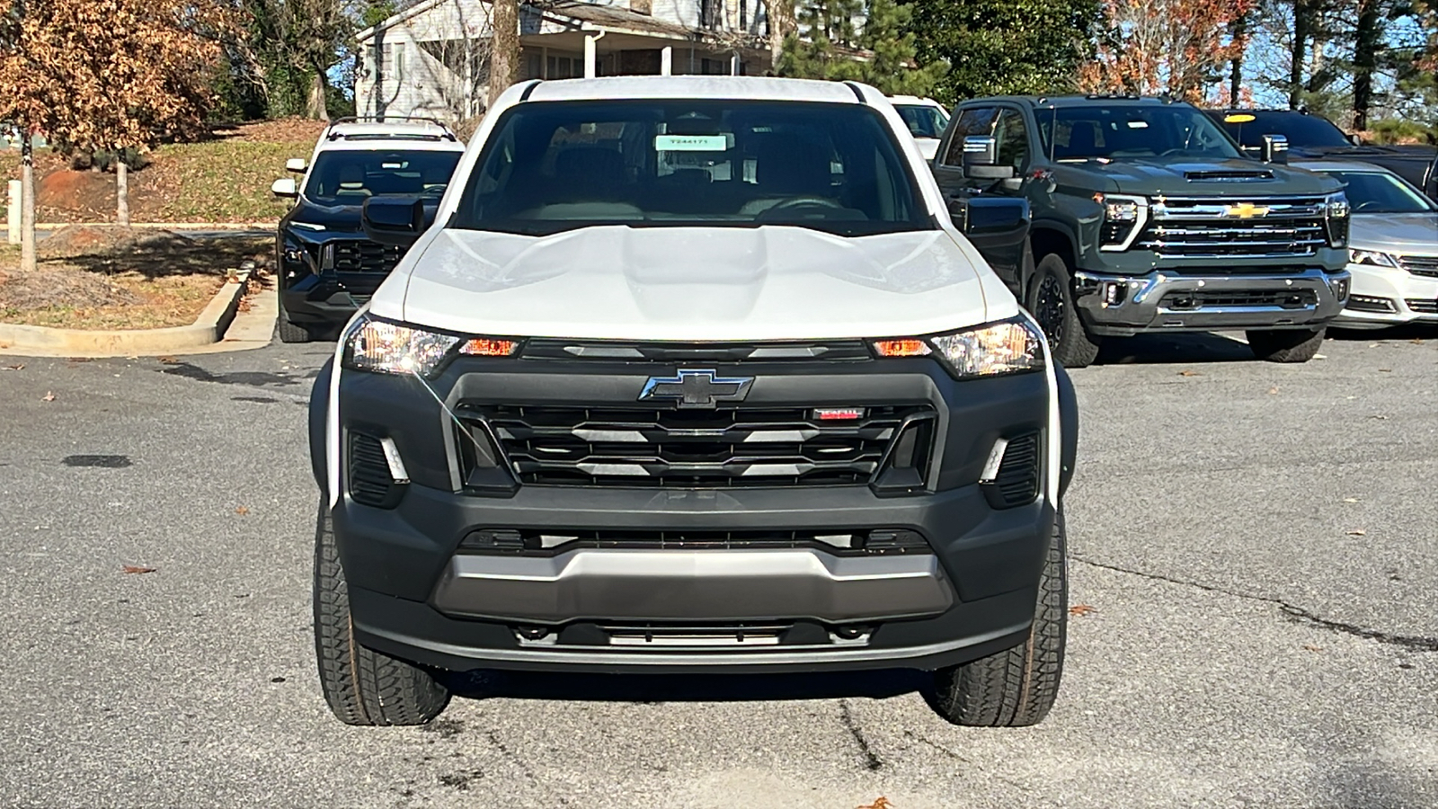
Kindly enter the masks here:
<path id="1" fill-rule="evenodd" d="M 541 366 L 546 373 L 536 373 Z M 978 481 L 995 442 L 1015 432 L 1043 430 L 1045 446 L 1061 442 L 1058 455 L 1071 462 L 1073 428 L 1061 436 L 1048 429 L 1044 374 L 958 383 L 928 358 L 719 371 L 755 376 L 746 404 L 756 407 L 929 403 L 938 416 L 933 468 L 922 489 L 897 497 L 867 485 L 475 489 L 462 479 L 454 426 L 434 396 L 450 404 L 631 406 L 650 373 L 673 369 L 475 358 L 430 383 L 434 396 L 413 379 L 347 371 L 341 435 L 383 433 L 411 479 L 393 507 L 355 502 L 345 489 L 332 510 L 361 642 L 459 671 L 808 671 L 940 668 L 1022 641 L 1057 492 L 1045 482 L 1032 502 L 997 508 Z M 1066 377 L 1060 387 L 1071 399 Z M 326 389 L 322 374 L 321 409 Z M 1064 420 L 1074 417 L 1068 404 Z M 312 420 L 312 445 L 324 446 L 322 430 L 316 435 Z M 322 466 L 316 456 L 325 481 Z M 585 547 L 506 556 L 464 544 L 476 530 L 499 527 L 605 535 L 897 528 L 917 531 L 928 548 L 846 556 L 800 547 Z"/>

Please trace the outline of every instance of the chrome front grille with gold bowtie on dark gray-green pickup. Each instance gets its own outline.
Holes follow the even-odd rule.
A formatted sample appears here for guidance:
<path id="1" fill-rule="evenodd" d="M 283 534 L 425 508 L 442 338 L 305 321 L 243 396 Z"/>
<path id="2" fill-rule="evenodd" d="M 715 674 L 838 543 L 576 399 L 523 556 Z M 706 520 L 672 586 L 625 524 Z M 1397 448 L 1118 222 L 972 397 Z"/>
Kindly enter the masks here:
<path id="1" fill-rule="evenodd" d="M 1168 199 L 1135 242 L 1172 258 L 1311 256 L 1327 243 L 1322 199 Z"/>

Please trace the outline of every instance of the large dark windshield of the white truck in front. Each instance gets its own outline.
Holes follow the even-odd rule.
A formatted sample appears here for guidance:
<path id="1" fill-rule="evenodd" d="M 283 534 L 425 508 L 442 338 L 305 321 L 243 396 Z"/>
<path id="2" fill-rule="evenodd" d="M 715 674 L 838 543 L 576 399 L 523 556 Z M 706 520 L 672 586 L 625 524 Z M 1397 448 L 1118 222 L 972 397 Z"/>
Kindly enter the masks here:
<path id="1" fill-rule="evenodd" d="M 857 104 L 528 102 L 485 144 L 454 226 L 792 225 L 841 236 L 933 225 L 899 145 Z"/>

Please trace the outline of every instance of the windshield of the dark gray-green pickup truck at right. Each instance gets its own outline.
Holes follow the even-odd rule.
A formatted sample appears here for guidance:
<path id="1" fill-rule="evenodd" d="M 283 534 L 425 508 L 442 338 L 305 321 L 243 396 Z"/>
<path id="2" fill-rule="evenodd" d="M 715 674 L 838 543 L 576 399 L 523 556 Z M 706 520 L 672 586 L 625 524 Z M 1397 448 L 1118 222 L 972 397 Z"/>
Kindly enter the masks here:
<path id="1" fill-rule="evenodd" d="M 1188 105 L 1102 104 L 1037 109 L 1044 151 L 1054 160 L 1227 160 L 1238 148 L 1208 115 Z"/>

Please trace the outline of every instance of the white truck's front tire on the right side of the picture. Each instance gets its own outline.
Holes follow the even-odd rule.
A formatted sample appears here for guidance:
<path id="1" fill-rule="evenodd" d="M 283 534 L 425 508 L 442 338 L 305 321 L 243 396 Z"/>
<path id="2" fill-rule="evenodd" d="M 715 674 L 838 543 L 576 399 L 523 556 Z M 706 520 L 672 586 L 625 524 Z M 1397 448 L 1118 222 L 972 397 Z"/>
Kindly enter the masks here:
<path id="1" fill-rule="evenodd" d="M 959 726 L 1038 724 L 1058 697 L 1067 638 L 1068 563 L 1060 508 L 1038 580 L 1038 605 L 1028 639 L 997 655 L 933 672 L 929 705 Z"/>

